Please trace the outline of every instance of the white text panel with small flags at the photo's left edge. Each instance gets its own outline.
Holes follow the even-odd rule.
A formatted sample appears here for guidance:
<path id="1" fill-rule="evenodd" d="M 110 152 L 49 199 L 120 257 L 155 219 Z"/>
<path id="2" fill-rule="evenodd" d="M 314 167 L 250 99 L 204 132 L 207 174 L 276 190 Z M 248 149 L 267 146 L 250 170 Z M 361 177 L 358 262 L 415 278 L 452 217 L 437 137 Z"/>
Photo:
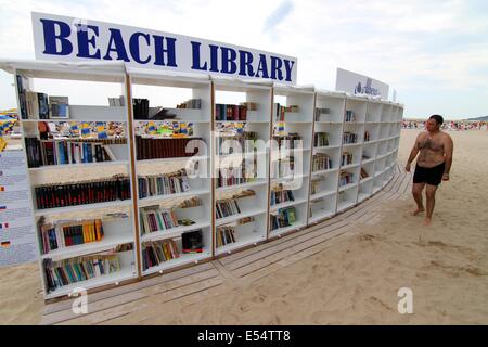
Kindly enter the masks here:
<path id="1" fill-rule="evenodd" d="M 27 175 L 22 150 L 0 152 L 0 267 L 38 259 Z"/>

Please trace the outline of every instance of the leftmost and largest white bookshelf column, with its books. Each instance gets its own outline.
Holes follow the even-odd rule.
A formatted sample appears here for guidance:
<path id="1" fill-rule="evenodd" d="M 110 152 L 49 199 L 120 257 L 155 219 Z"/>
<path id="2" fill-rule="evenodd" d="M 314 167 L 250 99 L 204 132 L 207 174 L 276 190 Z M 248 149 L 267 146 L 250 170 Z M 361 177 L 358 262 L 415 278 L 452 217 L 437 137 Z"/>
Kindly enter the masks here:
<path id="1" fill-rule="evenodd" d="M 14 75 L 21 118 L 22 110 L 26 110 L 26 106 L 30 107 L 26 110 L 28 114 L 24 114 L 29 118 L 21 119 L 21 129 L 24 152 L 26 158 L 30 158 L 29 166 L 36 163 L 34 164 L 36 167 L 29 167 L 28 170 L 44 298 L 68 295 L 75 287 L 90 290 L 118 285 L 137 279 L 132 196 L 102 202 L 103 198 L 107 198 L 108 193 L 105 197 L 95 196 L 97 194 L 92 191 L 93 193 L 87 193 L 81 197 L 79 190 L 78 193 L 60 191 L 62 184 L 111 179 L 114 175 L 123 175 L 129 182 L 127 191 L 132 192 L 128 114 L 124 106 L 110 106 L 106 99 L 118 98 L 121 94 L 124 100 L 127 100 L 124 64 L 88 64 L 87 66 L 86 64 L 15 62 L 10 64 L 7 70 Z M 16 76 L 20 77 L 16 78 Z M 47 80 L 55 81 L 55 87 L 47 88 L 44 86 Z M 92 88 L 93 93 L 84 97 L 97 100 L 99 104 L 72 104 L 80 98 L 76 94 L 61 93 L 68 97 L 69 117 L 48 119 L 47 117 L 51 116 L 51 107 L 48 115 L 41 112 L 40 106 L 39 110 L 35 110 L 37 105 L 33 106 L 33 103 L 28 105 L 27 102 L 25 104 L 23 102 L 27 91 L 46 93 L 49 98 L 60 95 L 63 86 L 73 83 Z M 102 102 L 101 95 L 97 92 L 100 90 L 105 90 L 103 94 L 105 99 Z M 114 90 L 117 92 L 115 95 L 112 94 Z M 41 95 L 37 94 L 38 102 L 40 99 Z M 119 131 L 119 134 L 111 134 L 112 126 Z M 104 131 L 111 139 L 108 141 L 113 142 L 102 146 L 103 140 L 99 137 L 102 137 Z M 113 140 L 115 138 L 124 143 L 115 144 Z M 110 160 L 106 160 L 108 159 L 106 156 L 102 157 L 101 154 L 89 152 L 95 146 L 87 142 L 87 139 L 95 141 L 94 143 L 100 145 L 99 150 L 103 149 L 100 151 L 110 152 Z M 37 150 L 35 150 L 36 146 Z M 57 196 L 49 196 L 51 193 L 47 193 L 47 190 L 36 191 L 35 188 L 40 185 L 59 187 Z M 94 187 L 85 189 L 94 190 Z M 53 201 L 51 206 L 44 202 L 44 198 L 50 197 Z M 97 198 L 99 202 L 95 202 Z M 101 221 L 103 237 L 100 234 L 95 236 L 99 231 L 88 234 L 89 231 L 85 227 L 75 230 L 77 226 L 84 223 L 93 226 L 94 220 Z M 44 234 L 48 236 L 43 237 Z M 106 259 L 107 256 L 112 257 L 113 262 L 101 270 L 101 267 L 94 264 L 94 259 Z M 51 271 L 46 270 L 48 267 L 60 268 L 55 274 L 53 271 L 52 275 L 49 275 Z"/>

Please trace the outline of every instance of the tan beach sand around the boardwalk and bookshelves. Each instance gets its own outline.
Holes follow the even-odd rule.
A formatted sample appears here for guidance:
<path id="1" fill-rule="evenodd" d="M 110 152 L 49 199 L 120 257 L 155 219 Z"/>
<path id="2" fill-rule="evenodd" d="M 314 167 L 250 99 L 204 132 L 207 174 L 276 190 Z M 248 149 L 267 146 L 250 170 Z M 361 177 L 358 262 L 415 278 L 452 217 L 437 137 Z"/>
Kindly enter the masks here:
<path id="1" fill-rule="evenodd" d="M 416 130 L 403 130 L 404 163 Z M 197 304 L 174 301 L 155 324 L 487 324 L 488 133 L 450 132 L 451 181 L 442 183 L 431 227 L 411 217 L 413 200 L 385 204 L 374 226 L 253 283 Z M 0 323 L 40 322 L 37 264 L 0 269 Z M 398 290 L 413 293 L 413 314 L 399 314 Z M 139 312 L 119 323 L 138 323 Z"/>

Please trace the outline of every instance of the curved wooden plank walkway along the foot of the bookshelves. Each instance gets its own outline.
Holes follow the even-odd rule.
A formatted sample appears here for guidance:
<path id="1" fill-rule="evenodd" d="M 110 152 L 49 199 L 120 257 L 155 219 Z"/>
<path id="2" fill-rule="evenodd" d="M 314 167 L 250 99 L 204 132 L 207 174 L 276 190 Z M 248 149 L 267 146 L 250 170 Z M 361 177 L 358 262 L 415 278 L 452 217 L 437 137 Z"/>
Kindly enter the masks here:
<path id="1" fill-rule="evenodd" d="M 72 311 L 74 299 L 46 305 L 42 324 L 110 324 L 141 310 L 145 319 L 138 323 L 150 323 L 160 312 L 160 305 L 198 303 L 228 288 L 249 285 L 333 246 L 334 240 L 357 233 L 358 224 L 377 223 L 382 206 L 408 197 L 410 187 L 411 174 L 397 164 L 383 190 L 322 223 L 217 260 L 90 294 L 87 314 Z"/>

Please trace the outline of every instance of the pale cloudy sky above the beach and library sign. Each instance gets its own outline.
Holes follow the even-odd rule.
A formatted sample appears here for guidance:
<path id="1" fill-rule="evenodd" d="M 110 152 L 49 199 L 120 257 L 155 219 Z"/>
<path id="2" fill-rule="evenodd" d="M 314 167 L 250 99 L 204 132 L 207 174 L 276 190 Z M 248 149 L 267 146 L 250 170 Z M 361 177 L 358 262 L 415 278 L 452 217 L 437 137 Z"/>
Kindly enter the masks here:
<path id="1" fill-rule="evenodd" d="M 33 11 L 294 56 L 298 85 L 319 89 L 349 69 L 395 89 L 406 117 L 488 115 L 487 0 L 0 0 L 0 59 L 35 59 Z M 0 72 L 0 110 L 12 106 Z"/>

